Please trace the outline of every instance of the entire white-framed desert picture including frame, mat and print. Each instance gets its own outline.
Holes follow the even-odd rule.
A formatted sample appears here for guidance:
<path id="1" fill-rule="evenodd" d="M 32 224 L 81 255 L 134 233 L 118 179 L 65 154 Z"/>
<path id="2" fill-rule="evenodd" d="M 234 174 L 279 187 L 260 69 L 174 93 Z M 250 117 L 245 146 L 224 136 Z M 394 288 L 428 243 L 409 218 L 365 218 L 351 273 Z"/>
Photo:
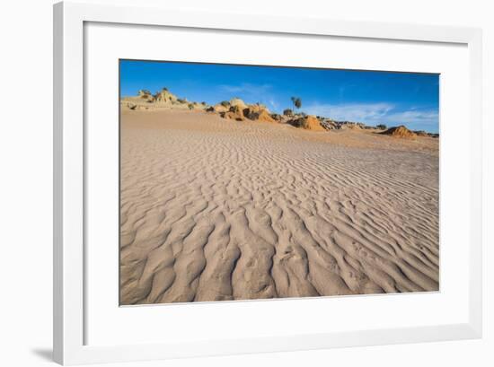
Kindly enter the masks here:
<path id="1" fill-rule="evenodd" d="M 54 355 L 481 337 L 481 31 L 54 6 Z"/>

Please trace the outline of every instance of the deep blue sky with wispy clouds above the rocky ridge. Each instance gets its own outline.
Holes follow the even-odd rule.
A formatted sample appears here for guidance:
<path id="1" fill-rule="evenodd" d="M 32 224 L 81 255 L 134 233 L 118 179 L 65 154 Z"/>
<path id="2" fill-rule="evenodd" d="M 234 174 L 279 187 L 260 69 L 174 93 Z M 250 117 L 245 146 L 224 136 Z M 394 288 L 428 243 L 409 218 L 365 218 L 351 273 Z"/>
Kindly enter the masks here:
<path id="1" fill-rule="evenodd" d="M 239 97 L 278 113 L 292 108 L 296 96 L 307 114 L 438 132 L 438 74 L 120 61 L 121 96 L 163 87 L 188 100 Z"/>

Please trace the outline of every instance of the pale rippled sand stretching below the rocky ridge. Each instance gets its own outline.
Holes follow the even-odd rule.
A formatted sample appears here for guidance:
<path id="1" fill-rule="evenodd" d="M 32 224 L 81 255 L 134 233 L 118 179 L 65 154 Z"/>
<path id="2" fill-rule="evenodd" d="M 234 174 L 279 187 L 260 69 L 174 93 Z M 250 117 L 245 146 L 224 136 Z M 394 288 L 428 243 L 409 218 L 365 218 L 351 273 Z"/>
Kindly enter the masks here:
<path id="1" fill-rule="evenodd" d="M 438 139 L 121 113 L 121 304 L 437 291 Z"/>

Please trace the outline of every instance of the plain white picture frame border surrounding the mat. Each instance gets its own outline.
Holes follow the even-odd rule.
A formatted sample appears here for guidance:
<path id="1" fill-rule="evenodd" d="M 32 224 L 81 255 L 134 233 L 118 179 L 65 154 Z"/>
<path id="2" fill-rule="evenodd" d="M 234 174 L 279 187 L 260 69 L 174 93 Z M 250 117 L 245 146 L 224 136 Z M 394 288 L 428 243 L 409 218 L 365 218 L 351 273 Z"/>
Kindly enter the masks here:
<path id="1" fill-rule="evenodd" d="M 63 2 L 54 5 L 54 359 L 109 363 L 481 337 L 481 31 L 382 22 L 291 19 Z M 227 15 L 227 16 L 226 16 Z M 468 319 L 448 325 L 245 337 L 176 344 L 87 345 L 84 340 L 84 22 L 463 44 L 468 48 L 471 215 Z M 465 246 L 466 246 L 465 245 Z"/>

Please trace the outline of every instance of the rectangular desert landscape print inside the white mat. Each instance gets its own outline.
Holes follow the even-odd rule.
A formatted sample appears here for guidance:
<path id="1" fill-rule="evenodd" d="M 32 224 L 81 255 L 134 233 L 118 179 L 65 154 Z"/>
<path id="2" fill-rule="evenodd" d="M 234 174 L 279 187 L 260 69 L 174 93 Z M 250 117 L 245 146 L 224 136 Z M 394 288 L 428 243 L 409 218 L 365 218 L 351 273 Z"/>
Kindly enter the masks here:
<path id="1" fill-rule="evenodd" d="M 439 290 L 439 75 L 119 60 L 120 305 Z"/>

